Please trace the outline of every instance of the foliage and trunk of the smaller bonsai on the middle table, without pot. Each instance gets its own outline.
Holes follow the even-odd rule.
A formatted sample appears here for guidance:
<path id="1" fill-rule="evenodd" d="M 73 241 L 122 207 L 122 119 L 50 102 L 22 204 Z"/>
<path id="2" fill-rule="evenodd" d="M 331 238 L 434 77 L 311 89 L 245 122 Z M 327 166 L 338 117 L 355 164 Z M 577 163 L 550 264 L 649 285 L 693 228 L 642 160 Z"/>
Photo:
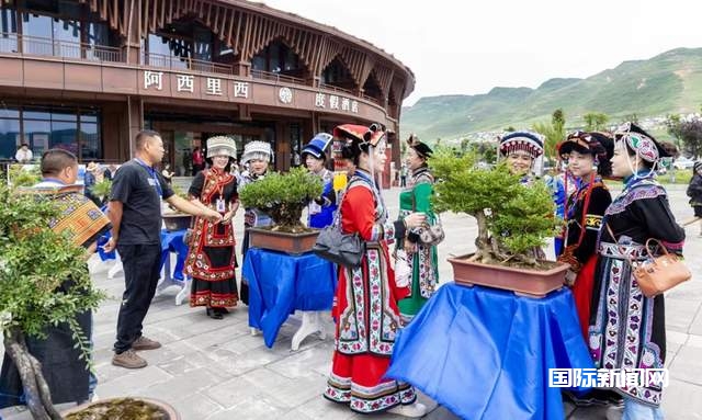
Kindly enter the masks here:
<path id="1" fill-rule="evenodd" d="M 272 230 L 298 234 L 309 230 L 301 222 L 303 209 L 322 190 L 321 179 L 301 167 L 247 184 L 239 191 L 239 200 L 246 207 L 268 213 L 275 224 Z"/>

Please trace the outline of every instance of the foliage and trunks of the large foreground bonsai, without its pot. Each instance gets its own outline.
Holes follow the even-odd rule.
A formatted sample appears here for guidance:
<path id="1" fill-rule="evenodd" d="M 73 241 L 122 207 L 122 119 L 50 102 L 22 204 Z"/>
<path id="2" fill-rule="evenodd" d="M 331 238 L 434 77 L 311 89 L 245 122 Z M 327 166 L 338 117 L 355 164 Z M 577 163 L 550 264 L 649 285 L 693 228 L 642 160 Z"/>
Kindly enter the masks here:
<path id="1" fill-rule="evenodd" d="M 522 185 L 521 177 L 511 174 L 505 163 L 495 169 L 476 163 L 472 154 L 456 157 L 445 149 L 433 154 L 429 164 L 438 180 L 434 209 L 475 217 L 478 237 L 472 261 L 535 266 L 533 249 L 544 246 L 562 225 L 554 217 L 551 191 L 541 181 Z"/>

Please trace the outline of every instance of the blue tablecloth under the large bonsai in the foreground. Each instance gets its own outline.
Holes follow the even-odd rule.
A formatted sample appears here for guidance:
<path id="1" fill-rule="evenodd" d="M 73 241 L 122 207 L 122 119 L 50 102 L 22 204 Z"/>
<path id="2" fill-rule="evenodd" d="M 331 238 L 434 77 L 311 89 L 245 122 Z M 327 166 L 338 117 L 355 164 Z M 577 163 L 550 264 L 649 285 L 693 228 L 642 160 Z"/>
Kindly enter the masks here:
<path id="1" fill-rule="evenodd" d="M 451 283 L 400 331 L 387 377 L 464 419 L 561 420 L 548 368 L 592 367 L 570 291 L 537 299 Z"/>

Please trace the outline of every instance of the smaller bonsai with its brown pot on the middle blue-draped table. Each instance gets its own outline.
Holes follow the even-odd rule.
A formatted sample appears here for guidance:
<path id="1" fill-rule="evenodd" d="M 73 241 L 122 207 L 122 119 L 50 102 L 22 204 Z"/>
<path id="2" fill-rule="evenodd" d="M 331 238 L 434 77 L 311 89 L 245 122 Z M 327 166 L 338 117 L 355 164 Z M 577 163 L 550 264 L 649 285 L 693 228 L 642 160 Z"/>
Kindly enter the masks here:
<path id="1" fill-rule="evenodd" d="M 288 253 L 309 251 L 319 231 L 306 227 L 301 218 L 303 209 L 321 192 L 321 179 L 302 167 L 270 173 L 242 188 L 239 200 L 244 206 L 260 208 L 273 219 L 271 227 L 250 229 L 251 247 Z"/>

